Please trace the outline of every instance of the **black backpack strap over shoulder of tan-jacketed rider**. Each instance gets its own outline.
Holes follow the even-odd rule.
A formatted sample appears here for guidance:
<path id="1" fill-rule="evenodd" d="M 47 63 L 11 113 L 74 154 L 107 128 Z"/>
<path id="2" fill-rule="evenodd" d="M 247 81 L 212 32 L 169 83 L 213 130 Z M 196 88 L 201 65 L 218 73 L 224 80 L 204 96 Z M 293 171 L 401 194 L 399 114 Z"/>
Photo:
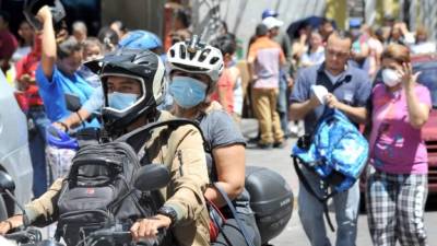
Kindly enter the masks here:
<path id="1" fill-rule="evenodd" d="M 120 138 L 116 139 L 115 141 L 119 142 L 127 142 L 129 145 L 132 147 L 132 149 L 138 153 L 141 148 L 144 145 L 144 142 L 147 140 L 150 137 L 150 132 L 154 130 L 155 128 L 161 128 L 161 127 L 168 127 L 173 130 L 177 129 L 178 127 L 186 126 L 186 125 L 191 125 L 196 127 L 203 140 L 203 148 L 205 151 L 210 151 L 210 147 L 208 141 L 205 140 L 202 129 L 200 129 L 199 125 L 190 119 L 168 119 L 164 121 L 156 121 L 156 122 L 151 122 L 145 126 L 142 126 L 129 133 L 126 133 L 121 136 Z"/>

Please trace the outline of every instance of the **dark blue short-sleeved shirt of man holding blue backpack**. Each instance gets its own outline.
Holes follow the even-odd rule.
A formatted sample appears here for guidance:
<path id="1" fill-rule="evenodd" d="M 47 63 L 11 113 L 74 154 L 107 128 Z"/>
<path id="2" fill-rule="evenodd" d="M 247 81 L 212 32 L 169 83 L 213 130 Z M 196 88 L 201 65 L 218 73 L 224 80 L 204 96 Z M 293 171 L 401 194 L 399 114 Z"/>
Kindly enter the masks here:
<path id="1" fill-rule="evenodd" d="M 336 83 L 340 83 L 340 85 L 333 91 L 333 94 L 340 102 L 353 107 L 367 106 L 371 92 L 371 82 L 367 73 L 361 69 L 347 66 L 338 81 L 332 83 L 324 71 L 324 62 L 305 68 L 298 72 L 290 101 L 291 103 L 303 103 L 309 99 L 311 96 L 310 87 L 314 84 L 323 85 L 332 93 Z M 311 134 L 314 132 L 317 121 L 323 114 L 323 109 L 324 105 L 320 105 L 305 116 L 306 133 Z"/>

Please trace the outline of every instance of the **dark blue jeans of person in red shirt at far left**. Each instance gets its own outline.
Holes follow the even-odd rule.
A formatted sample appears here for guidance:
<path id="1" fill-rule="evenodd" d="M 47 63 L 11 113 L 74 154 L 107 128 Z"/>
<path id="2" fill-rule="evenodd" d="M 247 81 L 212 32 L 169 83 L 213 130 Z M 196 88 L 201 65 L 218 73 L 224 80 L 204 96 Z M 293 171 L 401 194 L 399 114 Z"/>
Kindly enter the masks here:
<path id="1" fill-rule="evenodd" d="M 47 190 L 46 128 L 50 120 L 43 107 L 31 108 L 27 117 L 34 122 L 34 128 L 28 132 L 28 145 L 34 171 L 33 191 L 37 198 Z"/>

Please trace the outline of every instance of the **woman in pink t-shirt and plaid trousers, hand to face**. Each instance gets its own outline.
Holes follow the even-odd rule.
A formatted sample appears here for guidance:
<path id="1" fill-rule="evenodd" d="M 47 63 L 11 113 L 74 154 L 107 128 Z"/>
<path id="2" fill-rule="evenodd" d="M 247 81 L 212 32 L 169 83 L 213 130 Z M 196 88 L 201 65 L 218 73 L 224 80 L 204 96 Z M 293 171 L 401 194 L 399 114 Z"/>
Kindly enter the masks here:
<path id="1" fill-rule="evenodd" d="M 374 245 L 425 246 L 428 159 L 421 129 L 432 99 L 412 72 L 405 46 L 382 52 L 382 82 L 371 94 L 367 214 Z"/>

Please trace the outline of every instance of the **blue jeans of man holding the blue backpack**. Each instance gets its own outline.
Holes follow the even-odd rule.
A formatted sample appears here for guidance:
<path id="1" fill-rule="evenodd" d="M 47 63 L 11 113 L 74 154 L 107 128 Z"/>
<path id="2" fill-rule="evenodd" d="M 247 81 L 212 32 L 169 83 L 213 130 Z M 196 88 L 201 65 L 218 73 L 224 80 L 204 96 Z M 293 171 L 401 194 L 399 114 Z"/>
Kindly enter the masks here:
<path id="1" fill-rule="evenodd" d="M 305 168 L 304 175 L 312 189 L 321 196 L 320 178 Z M 299 184 L 299 218 L 311 246 L 331 246 L 323 223 L 323 204 Z M 355 246 L 359 207 L 358 181 L 347 191 L 333 197 L 336 220 L 336 246 Z M 335 226 L 335 223 L 333 223 Z"/>

